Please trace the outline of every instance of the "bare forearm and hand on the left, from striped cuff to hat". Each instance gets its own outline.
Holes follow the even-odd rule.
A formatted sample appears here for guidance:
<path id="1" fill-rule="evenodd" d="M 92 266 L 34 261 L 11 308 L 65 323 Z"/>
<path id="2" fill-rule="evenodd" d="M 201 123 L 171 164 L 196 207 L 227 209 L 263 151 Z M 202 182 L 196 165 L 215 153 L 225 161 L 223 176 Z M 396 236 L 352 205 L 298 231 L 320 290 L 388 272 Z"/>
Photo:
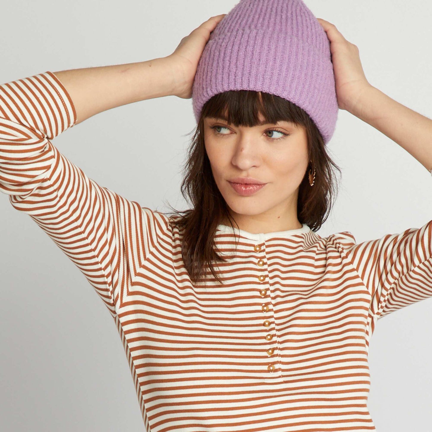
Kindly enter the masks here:
<path id="1" fill-rule="evenodd" d="M 162 96 L 192 96 L 197 65 L 210 33 L 225 16 L 212 16 L 181 39 L 175 51 L 138 63 L 88 67 L 54 72 L 76 109 L 76 123 L 132 102 Z"/>

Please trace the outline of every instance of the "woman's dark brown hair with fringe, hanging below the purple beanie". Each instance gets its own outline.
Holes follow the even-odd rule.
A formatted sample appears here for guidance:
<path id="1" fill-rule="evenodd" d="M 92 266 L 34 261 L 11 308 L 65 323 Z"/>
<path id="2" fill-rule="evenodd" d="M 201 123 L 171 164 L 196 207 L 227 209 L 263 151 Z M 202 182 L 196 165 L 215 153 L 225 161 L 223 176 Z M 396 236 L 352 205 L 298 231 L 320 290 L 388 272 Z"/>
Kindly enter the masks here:
<path id="1" fill-rule="evenodd" d="M 232 222 L 236 224 L 213 178 L 204 146 L 203 118 L 222 118 L 236 127 L 254 127 L 260 124 L 260 113 L 265 118 L 265 123 L 290 121 L 306 129 L 308 157 L 312 163 L 308 165 L 299 186 L 299 222 L 307 224 L 312 231 L 318 231 L 330 213 L 335 186 L 337 189 L 332 166 L 340 173 L 341 171 L 328 155 L 321 133 L 309 115 L 292 102 L 265 92 L 237 90 L 214 95 L 203 106 L 183 168 L 181 194 L 191 202 L 192 208 L 175 210 L 169 206 L 174 210 L 170 222 L 183 230 L 181 254 L 184 266 L 194 283 L 206 274 L 207 268 L 216 280 L 222 283 L 213 263 L 225 262 L 226 259 L 216 253 L 213 238 L 222 220 L 229 220 L 232 227 Z M 194 130 L 190 133 L 193 132 Z M 314 164 L 316 176 L 314 186 L 311 187 L 308 171 L 309 168 L 313 171 Z M 237 224 L 236 226 L 238 228 Z"/>

